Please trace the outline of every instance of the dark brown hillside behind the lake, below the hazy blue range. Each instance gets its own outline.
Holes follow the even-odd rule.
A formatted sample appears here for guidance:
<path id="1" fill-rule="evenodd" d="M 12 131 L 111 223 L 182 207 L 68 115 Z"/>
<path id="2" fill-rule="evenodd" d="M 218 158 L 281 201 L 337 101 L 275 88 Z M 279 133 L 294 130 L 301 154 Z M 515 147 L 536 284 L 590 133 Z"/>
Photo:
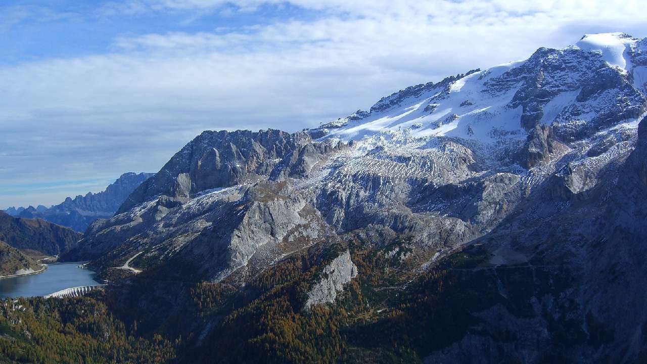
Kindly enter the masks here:
<path id="1" fill-rule="evenodd" d="M 15 218 L 0 211 L 0 240 L 17 249 L 59 255 L 75 247 L 82 234 L 42 219 Z"/>

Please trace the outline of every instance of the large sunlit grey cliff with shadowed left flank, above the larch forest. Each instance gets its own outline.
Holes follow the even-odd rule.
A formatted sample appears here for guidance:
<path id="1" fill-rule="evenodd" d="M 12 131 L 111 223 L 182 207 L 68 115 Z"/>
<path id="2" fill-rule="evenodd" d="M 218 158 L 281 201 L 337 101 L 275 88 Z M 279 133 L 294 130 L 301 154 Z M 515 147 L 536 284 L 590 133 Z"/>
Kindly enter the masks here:
<path id="1" fill-rule="evenodd" d="M 319 214 L 302 196 L 291 196 L 285 183 L 246 188 L 240 199 L 221 211 L 235 214 L 216 218 L 180 255 L 185 261 L 210 262 L 202 265 L 199 275 L 214 281 L 248 264 L 264 266 L 324 235 Z"/>

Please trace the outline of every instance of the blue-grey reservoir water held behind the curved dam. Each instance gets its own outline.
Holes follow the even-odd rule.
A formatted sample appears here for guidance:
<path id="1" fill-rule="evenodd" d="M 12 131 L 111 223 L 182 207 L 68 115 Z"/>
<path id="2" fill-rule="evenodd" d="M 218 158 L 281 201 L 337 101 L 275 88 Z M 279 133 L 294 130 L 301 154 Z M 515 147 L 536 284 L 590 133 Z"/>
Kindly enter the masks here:
<path id="1" fill-rule="evenodd" d="M 49 295 L 65 288 L 97 286 L 96 273 L 78 267 L 79 263 L 48 264 L 43 273 L 0 279 L 0 297 Z"/>

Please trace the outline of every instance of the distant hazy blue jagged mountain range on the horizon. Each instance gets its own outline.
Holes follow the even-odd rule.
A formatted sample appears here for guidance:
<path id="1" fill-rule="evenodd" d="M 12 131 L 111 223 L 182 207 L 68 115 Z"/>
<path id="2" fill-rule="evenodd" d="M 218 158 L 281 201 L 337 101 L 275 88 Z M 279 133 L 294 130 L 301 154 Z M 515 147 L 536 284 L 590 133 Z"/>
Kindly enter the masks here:
<path id="1" fill-rule="evenodd" d="M 94 220 L 113 216 L 131 192 L 153 175 L 153 173 L 127 172 L 105 188 L 103 192 L 96 194 L 88 192 L 85 196 L 78 195 L 74 199 L 68 197 L 62 203 L 49 209 L 38 205 L 38 207 L 27 208 L 9 207 L 5 212 L 21 218 L 42 218 L 83 232 Z"/>

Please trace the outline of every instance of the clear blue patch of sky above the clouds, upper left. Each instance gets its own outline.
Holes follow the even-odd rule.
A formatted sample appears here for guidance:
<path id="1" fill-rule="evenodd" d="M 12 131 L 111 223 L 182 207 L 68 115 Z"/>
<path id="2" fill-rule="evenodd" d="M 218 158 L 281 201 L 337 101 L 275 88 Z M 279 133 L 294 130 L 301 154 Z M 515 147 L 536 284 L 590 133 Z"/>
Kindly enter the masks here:
<path id="1" fill-rule="evenodd" d="M 128 11 L 127 2 L 4 1 L 0 40 L 3 65 L 105 54 L 118 51 L 115 39 L 168 32 L 245 31 L 248 25 L 269 25 L 285 19 L 314 19 L 316 12 L 292 6 L 261 4 L 245 11 L 228 3 L 203 9 L 167 8 Z M 131 2 L 137 4 L 137 2 Z M 135 5 L 131 5 L 135 6 Z M 142 5 L 143 6 L 143 5 Z M 218 28 L 221 28 L 217 30 Z"/>

